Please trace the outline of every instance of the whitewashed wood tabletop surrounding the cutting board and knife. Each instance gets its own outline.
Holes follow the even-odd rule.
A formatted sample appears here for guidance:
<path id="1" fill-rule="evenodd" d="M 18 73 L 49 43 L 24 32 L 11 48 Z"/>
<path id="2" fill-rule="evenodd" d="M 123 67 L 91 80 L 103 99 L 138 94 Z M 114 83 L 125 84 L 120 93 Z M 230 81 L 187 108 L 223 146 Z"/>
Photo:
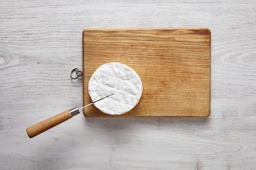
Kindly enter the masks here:
<path id="1" fill-rule="evenodd" d="M 82 106 L 84 28 L 208 27 L 207 119 L 73 117 L 29 139 L 26 127 Z M 0 1 L 1 170 L 255 170 L 255 0 Z"/>

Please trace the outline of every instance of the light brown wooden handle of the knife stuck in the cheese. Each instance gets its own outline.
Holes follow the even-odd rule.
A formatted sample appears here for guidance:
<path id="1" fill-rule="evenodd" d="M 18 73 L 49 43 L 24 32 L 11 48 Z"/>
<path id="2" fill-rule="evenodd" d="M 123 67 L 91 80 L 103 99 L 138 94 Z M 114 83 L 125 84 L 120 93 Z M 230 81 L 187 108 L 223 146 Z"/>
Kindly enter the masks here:
<path id="1" fill-rule="evenodd" d="M 29 136 L 29 138 L 33 138 L 35 136 L 38 136 L 39 134 L 45 132 L 46 130 L 51 129 L 52 127 L 55 127 L 62 122 L 65 122 L 66 120 L 72 118 L 72 115 L 69 110 L 64 111 L 62 113 L 59 113 L 55 116 L 52 116 L 42 122 L 39 122 L 35 125 L 32 125 L 28 128 L 26 128 L 26 132 Z"/>

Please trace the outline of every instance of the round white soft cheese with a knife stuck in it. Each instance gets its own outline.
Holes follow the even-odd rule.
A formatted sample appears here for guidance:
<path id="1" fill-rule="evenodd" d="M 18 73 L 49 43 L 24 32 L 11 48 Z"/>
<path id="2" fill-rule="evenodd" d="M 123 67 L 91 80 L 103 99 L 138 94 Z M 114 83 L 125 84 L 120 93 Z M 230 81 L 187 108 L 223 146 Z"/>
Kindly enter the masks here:
<path id="1" fill-rule="evenodd" d="M 131 67 L 119 62 L 109 62 L 93 73 L 88 91 L 93 102 L 108 96 L 95 102 L 96 108 L 107 114 L 119 115 L 138 104 L 142 95 L 142 82 Z"/>

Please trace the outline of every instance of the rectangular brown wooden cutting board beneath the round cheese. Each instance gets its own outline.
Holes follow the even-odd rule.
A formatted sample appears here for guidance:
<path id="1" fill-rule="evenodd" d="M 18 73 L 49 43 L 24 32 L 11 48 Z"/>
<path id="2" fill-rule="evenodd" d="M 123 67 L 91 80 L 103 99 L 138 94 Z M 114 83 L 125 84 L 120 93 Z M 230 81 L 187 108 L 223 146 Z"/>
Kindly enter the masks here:
<path id="1" fill-rule="evenodd" d="M 208 28 L 84 29 L 83 104 L 88 82 L 108 62 L 133 68 L 143 83 L 128 113 L 108 115 L 90 105 L 87 117 L 207 117 L 211 101 L 211 32 Z"/>

